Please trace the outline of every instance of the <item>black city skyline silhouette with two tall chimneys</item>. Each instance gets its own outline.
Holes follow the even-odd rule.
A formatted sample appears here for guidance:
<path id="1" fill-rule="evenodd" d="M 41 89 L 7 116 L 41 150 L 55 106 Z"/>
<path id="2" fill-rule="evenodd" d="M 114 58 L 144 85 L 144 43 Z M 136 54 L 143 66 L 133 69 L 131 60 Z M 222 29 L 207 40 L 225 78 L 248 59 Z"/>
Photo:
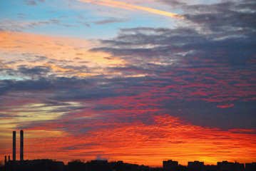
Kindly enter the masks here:
<path id="1" fill-rule="evenodd" d="M 235 162 L 217 162 L 217 165 L 205 165 L 204 162 L 193 161 L 188 162 L 188 165 L 179 165 L 178 161 L 166 160 L 163 161 L 163 167 L 148 167 L 145 165 L 137 165 L 126 163 L 121 160 L 108 162 L 106 159 L 96 159 L 87 162 L 81 160 L 72 160 L 68 165 L 64 165 L 61 161 L 51 159 L 24 160 L 24 130 L 20 130 L 20 160 L 16 160 L 16 131 L 13 131 L 13 147 L 12 160 L 10 155 L 5 155 L 4 165 L 0 165 L 0 170 L 164 170 L 164 171 L 253 171 L 256 169 L 256 162 L 239 163 Z M 25 149 L 26 151 L 26 149 Z"/>

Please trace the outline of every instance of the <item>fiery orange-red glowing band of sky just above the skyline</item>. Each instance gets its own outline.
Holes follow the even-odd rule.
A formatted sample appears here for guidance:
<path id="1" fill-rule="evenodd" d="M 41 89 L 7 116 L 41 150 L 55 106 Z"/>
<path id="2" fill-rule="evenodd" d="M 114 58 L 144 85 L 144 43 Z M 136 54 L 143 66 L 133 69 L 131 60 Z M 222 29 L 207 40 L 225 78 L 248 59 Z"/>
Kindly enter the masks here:
<path id="1" fill-rule="evenodd" d="M 168 121 L 166 122 L 166 120 Z M 86 135 L 84 139 L 76 138 L 73 135 L 61 135 L 62 133 L 58 133 L 57 130 L 48 130 L 48 125 L 43 125 L 44 128 L 36 127 L 24 130 L 24 133 L 28 134 L 24 136 L 25 145 L 26 142 L 34 141 L 34 144 L 26 145 L 24 148 L 25 160 L 47 158 L 46 156 L 49 153 L 55 153 L 54 155 L 52 154 L 53 159 L 59 158 L 65 163 L 71 161 L 69 159 L 70 156 L 68 156 L 71 155 L 73 156 L 72 160 L 123 160 L 124 162 L 135 162 L 139 165 L 150 165 L 154 167 L 159 167 L 163 160 L 170 159 L 178 161 L 181 165 L 187 165 L 188 162 L 194 160 L 205 162 L 205 165 L 217 165 L 217 162 L 226 160 L 228 162 L 237 161 L 240 163 L 248 163 L 254 160 L 254 157 L 245 158 L 236 156 L 242 155 L 241 148 L 245 155 L 253 155 L 255 153 L 255 150 L 251 151 L 251 148 L 255 147 L 255 140 L 250 135 L 244 134 L 245 132 L 253 133 L 255 130 L 222 131 L 201 128 L 188 123 L 184 125 L 183 121 L 178 120 L 178 118 L 171 118 L 168 115 L 155 117 L 155 123 L 155 125 L 135 123 L 135 125 L 123 125 L 122 127 L 115 125 L 116 128 L 109 130 L 107 133 L 105 130 L 100 130 L 96 134 Z M 143 132 L 150 132 L 150 137 Z M 129 137 L 126 136 L 127 133 Z M 48 134 L 54 135 L 55 137 L 48 136 Z M 226 138 L 225 141 L 219 137 L 220 134 Z M 43 137 L 41 137 L 42 135 Z M 153 141 L 148 141 L 148 138 Z M 247 141 L 245 142 L 241 138 L 245 138 Z M 213 139 L 215 140 L 214 142 L 212 142 Z M 114 142 L 115 140 L 117 141 Z M 133 142 L 133 140 L 138 141 Z M 11 140 L 8 142 L 11 144 Z M 96 145 L 98 142 L 101 143 Z M 129 147 L 124 149 L 122 147 L 123 142 L 126 142 Z M 16 135 L 16 143 L 19 143 L 19 135 Z M 244 147 L 237 145 L 240 143 L 244 144 Z M 90 153 L 88 153 L 88 156 L 78 155 L 88 152 L 86 146 L 83 147 L 81 146 L 82 144 L 95 144 L 93 145 L 94 147 L 90 147 L 90 151 L 103 150 L 107 153 L 97 155 L 95 158 Z M 63 151 L 48 151 L 48 145 L 63 149 Z M 252 146 L 250 147 L 248 145 Z M 11 145 L 9 146 L 11 147 Z M 193 147 L 193 151 L 190 150 L 191 147 Z M 210 151 L 209 148 L 211 149 Z M 222 149 L 225 149 L 225 151 L 221 152 Z M 208 152 L 205 152 L 206 150 Z M 217 155 L 213 157 L 215 150 L 222 157 Z M 202 153 L 199 155 L 198 151 L 202 151 Z M 227 151 L 232 151 L 233 155 L 225 155 Z M 6 150 L 6 152 L 11 152 L 11 149 Z M 170 152 L 172 153 L 171 155 Z M 16 147 L 16 155 L 18 153 L 19 145 Z M 143 160 L 141 160 L 141 157 L 143 157 Z M 151 160 L 153 158 L 157 158 L 158 160 L 152 162 Z"/>

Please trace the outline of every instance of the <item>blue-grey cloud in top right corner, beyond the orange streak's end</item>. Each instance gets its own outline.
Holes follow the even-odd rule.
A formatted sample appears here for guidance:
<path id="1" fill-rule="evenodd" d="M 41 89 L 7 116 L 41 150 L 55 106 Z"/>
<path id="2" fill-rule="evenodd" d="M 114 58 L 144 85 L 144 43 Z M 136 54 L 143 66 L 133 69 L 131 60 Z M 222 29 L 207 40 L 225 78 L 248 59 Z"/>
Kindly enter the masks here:
<path id="1" fill-rule="evenodd" d="M 254 4 L 247 4 L 247 9 Z M 232 9 L 237 7 L 237 9 Z M 231 3 L 226 4 L 215 4 L 212 6 L 190 6 L 189 9 L 195 11 L 192 14 L 185 14 L 185 18 L 193 23 L 202 24 L 210 28 L 210 31 L 230 31 L 236 32 L 247 32 L 253 29 L 255 32 L 255 11 L 240 11 L 241 6 L 232 6 Z M 205 11 L 205 13 L 198 13 L 198 11 Z M 236 11 L 237 10 L 237 11 Z M 245 9 L 243 9 L 245 10 Z M 211 12 L 210 12 L 211 11 Z M 242 29 L 241 29 L 242 27 Z"/>

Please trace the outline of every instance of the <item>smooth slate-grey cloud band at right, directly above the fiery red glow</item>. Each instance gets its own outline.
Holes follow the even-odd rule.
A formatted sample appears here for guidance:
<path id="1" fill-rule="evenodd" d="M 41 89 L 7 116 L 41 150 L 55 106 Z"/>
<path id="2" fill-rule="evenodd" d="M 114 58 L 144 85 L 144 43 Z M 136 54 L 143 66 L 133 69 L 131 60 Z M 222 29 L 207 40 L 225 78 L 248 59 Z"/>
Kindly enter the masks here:
<path id="1" fill-rule="evenodd" d="M 203 127 L 221 128 L 224 130 L 241 128 L 255 129 L 256 117 L 253 115 L 255 110 L 255 100 L 250 102 L 240 102 L 234 100 L 234 106 L 230 108 L 216 108 L 221 102 L 205 101 L 185 101 L 185 100 L 164 100 L 167 113 L 187 120 L 193 125 Z M 224 103 L 225 104 L 225 103 Z"/>

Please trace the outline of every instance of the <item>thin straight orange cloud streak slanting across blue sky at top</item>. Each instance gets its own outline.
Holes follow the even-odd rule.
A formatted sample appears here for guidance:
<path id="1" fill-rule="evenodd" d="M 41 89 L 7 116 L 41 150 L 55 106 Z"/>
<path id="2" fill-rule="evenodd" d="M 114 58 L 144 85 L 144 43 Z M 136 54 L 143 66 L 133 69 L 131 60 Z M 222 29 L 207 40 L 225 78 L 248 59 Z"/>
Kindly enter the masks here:
<path id="1" fill-rule="evenodd" d="M 173 18 L 184 19 L 184 17 L 180 14 L 162 11 L 159 9 L 151 9 L 151 8 L 148 8 L 145 6 L 136 6 L 136 5 L 120 2 L 120 1 L 112 1 L 112 0 L 100 0 L 100 1 L 78 0 L 78 1 L 83 1 L 83 2 L 87 2 L 87 3 L 98 4 L 98 5 L 103 5 L 103 6 L 111 6 L 111 7 L 115 7 L 115 8 L 119 8 L 119 9 L 127 9 L 127 10 L 131 10 L 131 11 L 133 11 L 133 10 L 147 11 L 149 13 L 158 14 L 158 15 L 162 15 L 162 16 L 170 16 Z"/>

